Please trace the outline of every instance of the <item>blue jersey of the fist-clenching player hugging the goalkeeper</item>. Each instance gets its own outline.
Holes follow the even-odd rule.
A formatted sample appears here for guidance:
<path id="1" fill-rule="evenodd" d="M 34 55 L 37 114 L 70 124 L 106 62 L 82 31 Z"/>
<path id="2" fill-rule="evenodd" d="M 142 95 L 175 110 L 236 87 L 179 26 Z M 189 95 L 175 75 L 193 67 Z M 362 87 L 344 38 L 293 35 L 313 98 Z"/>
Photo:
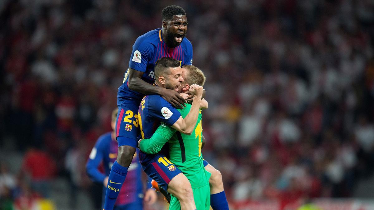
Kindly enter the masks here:
<path id="1" fill-rule="evenodd" d="M 160 95 L 144 96 L 138 112 L 140 133 L 143 139 L 151 138 L 160 122 L 172 126 L 181 116 L 180 112 Z"/>

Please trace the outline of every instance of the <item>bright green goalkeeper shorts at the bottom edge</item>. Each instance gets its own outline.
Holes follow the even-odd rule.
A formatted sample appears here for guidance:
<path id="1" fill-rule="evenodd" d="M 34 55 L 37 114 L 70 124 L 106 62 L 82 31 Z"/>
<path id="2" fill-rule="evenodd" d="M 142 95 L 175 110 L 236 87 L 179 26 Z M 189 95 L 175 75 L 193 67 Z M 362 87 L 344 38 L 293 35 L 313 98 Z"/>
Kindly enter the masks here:
<path id="1" fill-rule="evenodd" d="M 209 210 L 210 209 L 210 188 L 209 183 L 200 188 L 194 188 L 193 198 L 195 200 L 197 210 Z M 181 204 L 178 198 L 171 196 L 171 201 L 169 205 L 169 210 L 180 210 Z"/>

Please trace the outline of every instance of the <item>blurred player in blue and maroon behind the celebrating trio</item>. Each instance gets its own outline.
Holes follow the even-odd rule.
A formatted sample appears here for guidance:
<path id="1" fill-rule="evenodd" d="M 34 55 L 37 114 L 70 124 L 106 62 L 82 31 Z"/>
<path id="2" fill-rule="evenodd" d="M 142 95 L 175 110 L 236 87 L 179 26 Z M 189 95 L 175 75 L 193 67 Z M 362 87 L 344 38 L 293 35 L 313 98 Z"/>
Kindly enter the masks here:
<path id="1" fill-rule="evenodd" d="M 86 172 L 93 182 L 101 183 L 104 185 L 103 198 L 105 189 L 107 187 L 108 175 L 110 168 L 117 158 L 118 144 L 115 138 L 115 123 L 117 118 L 118 109 L 112 112 L 111 127 L 112 132 L 107 132 L 100 136 L 95 146 L 89 155 L 86 164 Z M 145 204 L 151 205 L 156 199 L 157 195 L 154 189 L 151 189 L 151 180 L 147 180 L 147 189 L 144 192 L 144 185 L 142 183 L 142 170 L 138 160 L 139 150 L 134 154 L 131 167 L 128 170 L 128 176 L 123 187 L 119 191 L 118 198 L 114 204 L 114 210 L 138 210 L 143 209 L 143 200 Z M 99 165 L 102 163 L 104 167 L 104 174 L 99 171 Z M 143 174 L 144 175 L 144 174 Z M 111 181 L 110 181 L 111 182 Z M 144 199 L 143 199 L 144 198 Z M 104 205 L 104 200 L 102 202 Z"/>

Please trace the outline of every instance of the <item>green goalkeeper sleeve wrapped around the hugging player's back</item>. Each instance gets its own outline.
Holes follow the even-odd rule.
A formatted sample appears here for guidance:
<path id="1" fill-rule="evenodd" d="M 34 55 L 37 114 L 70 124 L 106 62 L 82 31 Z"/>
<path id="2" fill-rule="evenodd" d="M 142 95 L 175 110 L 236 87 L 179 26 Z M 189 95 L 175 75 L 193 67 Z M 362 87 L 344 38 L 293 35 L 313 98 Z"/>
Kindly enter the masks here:
<path id="1" fill-rule="evenodd" d="M 150 139 L 143 139 L 139 142 L 141 151 L 147 154 L 156 154 L 161 151 L 163 145 L 174 135 L 175 129 L 161 123 Z"/>

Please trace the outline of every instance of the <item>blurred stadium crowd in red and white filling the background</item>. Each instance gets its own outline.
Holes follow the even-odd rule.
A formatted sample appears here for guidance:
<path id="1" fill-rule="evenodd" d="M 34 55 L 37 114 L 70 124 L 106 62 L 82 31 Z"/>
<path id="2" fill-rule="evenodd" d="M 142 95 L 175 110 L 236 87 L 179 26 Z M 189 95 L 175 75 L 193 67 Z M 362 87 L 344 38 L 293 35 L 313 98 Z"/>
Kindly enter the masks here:
<path id="1" fill-rule="evenodd" d="M 229 203 L 353 196 L 374 169 L 373 1 L 5 0 L 0 149 L 24 158 L 18 173 L 1 160 L 1 200 L 48 197 L 56 177 L 91 189 L 132 45 L 171 4 L 206 75 L 202 151 Z"/>

